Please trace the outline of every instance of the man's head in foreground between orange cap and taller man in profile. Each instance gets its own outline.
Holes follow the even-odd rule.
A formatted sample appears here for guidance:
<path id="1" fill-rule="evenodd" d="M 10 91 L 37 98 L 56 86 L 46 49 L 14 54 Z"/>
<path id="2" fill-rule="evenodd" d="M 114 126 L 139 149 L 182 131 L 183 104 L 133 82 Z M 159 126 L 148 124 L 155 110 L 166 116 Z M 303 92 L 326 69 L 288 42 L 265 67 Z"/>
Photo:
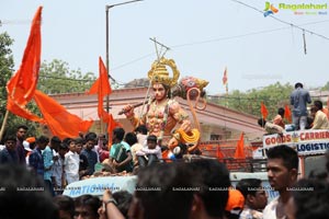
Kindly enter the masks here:
<path id="1" fill-rule="evenodd" d="M 245 207 L 240 214 L 240 219 L 262 219 L 262 211 L 268 204 L 268 196 L 262 187 L 262 181 L 259 178 L 242 178 L 238 182 L 236 188 L 245 197 Z"/>

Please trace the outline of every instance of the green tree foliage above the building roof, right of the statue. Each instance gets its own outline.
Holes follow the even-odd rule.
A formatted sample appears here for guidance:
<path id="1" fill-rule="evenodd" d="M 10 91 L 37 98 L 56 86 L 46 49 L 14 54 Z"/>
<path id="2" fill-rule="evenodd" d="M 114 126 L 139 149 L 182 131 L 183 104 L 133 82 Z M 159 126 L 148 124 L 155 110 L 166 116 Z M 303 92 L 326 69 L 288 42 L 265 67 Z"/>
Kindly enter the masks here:
<path id="1" fill-rule="evenodd" d="M 281 84 L 276 82 L 262 89 L 251 89 L 246 93 L 235 90 L 227 96 L 220 96 L 215 102 L 219 105 L 259 117 L 261 116 L 260 105 L 263 102 L 271 119 L 276 115 L 279 107 L 284 107 L 285 104 L 290 105 L 290 95 L 293 89 L 293 85 L 290 83 Z"/>

